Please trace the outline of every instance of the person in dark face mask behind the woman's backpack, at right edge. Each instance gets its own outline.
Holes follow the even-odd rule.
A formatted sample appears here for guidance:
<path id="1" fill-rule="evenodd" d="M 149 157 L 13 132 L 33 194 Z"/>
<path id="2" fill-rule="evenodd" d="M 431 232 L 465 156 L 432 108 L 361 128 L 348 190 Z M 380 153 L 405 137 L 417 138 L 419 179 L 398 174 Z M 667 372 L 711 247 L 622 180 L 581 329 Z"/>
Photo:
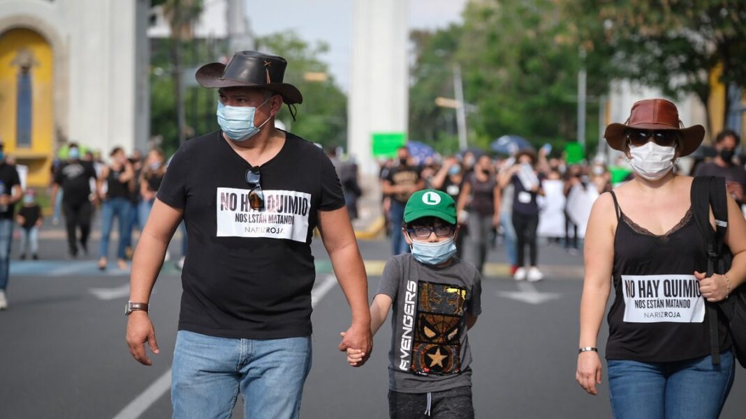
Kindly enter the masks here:
<path id="1" fill-rule="evenodd" d="M 718 155 L 712 161 L 699 164 L 694 173 L 694 176 L 724 177 L 728 193 L 736 199 L 739 206 L 744 204 L 746 191 L 746 169 L 733 159 L 740 142 L 738 133 L 730 129 L 720 132 L 715 137 L 715 151 Z"/>

